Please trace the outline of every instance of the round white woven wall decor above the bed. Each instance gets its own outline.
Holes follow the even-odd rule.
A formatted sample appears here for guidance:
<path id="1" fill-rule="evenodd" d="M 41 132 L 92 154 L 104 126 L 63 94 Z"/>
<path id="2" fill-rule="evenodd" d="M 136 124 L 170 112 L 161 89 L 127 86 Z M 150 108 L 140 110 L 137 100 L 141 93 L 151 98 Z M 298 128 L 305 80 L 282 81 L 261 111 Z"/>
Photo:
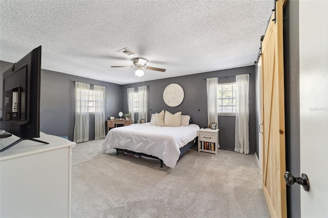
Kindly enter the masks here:
<path id="1" fill-rule="evenodd" d="M 169 84 L 163 92 L 164 102 L 170 107 L 176 107 L 181 104 L 183 97 L 185 97 L 185 92 L 183 92 L 182 87 L 176 83 Z"/>

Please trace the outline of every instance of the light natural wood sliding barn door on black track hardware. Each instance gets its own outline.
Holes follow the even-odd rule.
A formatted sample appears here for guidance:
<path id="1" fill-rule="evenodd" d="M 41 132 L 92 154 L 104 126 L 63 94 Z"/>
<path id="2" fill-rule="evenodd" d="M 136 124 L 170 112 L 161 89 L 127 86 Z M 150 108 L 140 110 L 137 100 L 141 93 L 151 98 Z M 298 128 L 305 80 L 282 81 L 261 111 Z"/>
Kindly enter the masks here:
<path id="1" fill-rule="evenodd" d="M 272 217 L 286 217 L 282 1 L 262 42 L 263 192 Z M 275 19 L 275 21 L 272 21 Z"/>

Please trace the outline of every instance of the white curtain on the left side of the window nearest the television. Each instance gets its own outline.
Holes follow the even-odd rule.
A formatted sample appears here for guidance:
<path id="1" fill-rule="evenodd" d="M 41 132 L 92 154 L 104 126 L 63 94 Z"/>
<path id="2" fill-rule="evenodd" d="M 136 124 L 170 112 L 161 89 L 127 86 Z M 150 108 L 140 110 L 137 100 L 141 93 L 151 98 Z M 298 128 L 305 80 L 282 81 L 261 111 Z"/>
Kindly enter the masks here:
<path id="1" fill-rule="evenodd" d="M 75 82 L 74 142 L 89 141 L 89 90 L 90 84 Z"/>

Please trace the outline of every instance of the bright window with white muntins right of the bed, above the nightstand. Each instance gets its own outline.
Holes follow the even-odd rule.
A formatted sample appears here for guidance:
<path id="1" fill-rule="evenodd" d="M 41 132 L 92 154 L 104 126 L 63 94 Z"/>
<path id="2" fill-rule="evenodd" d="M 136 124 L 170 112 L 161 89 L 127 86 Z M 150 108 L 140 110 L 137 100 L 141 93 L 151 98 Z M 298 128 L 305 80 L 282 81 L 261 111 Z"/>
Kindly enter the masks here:
<path id="1" fill-rule="evenodd" d="M 217 84 L 217 113 L 236 114 L 236 83 Z"/>

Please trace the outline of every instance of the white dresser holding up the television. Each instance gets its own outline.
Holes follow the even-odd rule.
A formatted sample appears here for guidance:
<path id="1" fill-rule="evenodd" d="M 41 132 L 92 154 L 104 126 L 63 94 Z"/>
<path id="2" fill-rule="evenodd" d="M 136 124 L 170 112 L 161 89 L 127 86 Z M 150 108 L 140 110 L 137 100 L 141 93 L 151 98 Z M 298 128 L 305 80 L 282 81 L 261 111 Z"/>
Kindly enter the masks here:
<path id="1" fill-rule="evenodd" d="M 0 140 L 1 148 L 16 136 Z M 76 143 L 40 133 L 0 153 L 0 217 L 70 217 L 71 154 Z"/>

